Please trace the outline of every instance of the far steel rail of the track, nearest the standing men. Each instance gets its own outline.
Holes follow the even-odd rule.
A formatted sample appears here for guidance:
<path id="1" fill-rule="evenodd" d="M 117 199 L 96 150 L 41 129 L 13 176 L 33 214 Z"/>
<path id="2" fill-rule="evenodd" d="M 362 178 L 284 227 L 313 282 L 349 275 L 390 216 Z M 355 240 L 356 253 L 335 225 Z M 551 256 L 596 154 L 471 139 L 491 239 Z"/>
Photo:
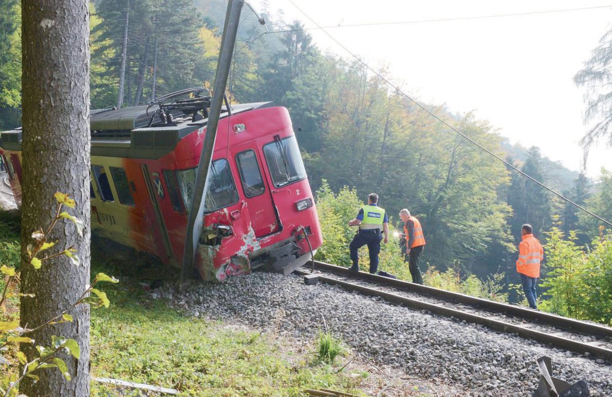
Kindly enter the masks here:
<path id="1" fill-rule="evenodd" d="M 493 300 L 476 298 L 458 292 L 444 291 L 443 289 L 432 288 L 420 284 L 409 283 L 408 281 L 395 280 L 389 277 L 373 275 L 365 272 L 351 272 L 346 267 L 340 267 L 325 262 L 315 261 L 315 269 L 323 270 L 324 272 L 336 273 L 338 275 L 357 278 L 359 280 L 369 281 L 370 283 L 379 284 L 381 286 L 400 289 L 401 291 L 414 292 L 420 295 L 428 295 L 430 297 L 447 300 L 449 302 L 461 303 L 464 305 L 473 306 L 483 310 L 490 310 L 496 313 L 509 314 L 531 322 L 537 322 L 551 327 L 561 328 L 568 331 L 581 333 L 583 335 L 603 336 L 612 338 L 612 328 L 605 325 L 592 324 L 568 317 L 558 316 L 557 314 L 547 313 L 545 311 L 532 310 L 517 305 L 509 305 L 507 303 L 494 302 Z"/>

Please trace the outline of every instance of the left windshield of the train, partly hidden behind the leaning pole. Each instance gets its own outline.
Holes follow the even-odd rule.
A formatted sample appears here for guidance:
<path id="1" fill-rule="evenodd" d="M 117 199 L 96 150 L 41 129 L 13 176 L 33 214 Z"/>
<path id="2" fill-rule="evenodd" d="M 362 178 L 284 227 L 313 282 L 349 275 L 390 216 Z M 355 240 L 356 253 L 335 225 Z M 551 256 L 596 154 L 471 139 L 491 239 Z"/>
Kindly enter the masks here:
<path id="1" fill-rule="evenodd" d="M 195 188 L 195 171 L 197 168 L 176 171 L 179 188 L 183 196 L 185 209 L 191 208 L 193 189 Z M 208 174 L 208 191 L 204 201 L 204 212 L 212 212 L 238 202 L 238 191 L 231 175 L 230 165 L 225 158 L 212 162 Z"/>

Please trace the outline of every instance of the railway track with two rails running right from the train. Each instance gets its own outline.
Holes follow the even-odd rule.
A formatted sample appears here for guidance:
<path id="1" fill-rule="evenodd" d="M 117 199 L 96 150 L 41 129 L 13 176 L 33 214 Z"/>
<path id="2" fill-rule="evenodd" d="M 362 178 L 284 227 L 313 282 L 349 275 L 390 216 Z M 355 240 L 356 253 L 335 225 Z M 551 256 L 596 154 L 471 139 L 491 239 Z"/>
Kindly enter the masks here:
<path id="1" fill-rule="evenodd" d="M 308 264 L 310 265 L 310 263 Z M 308 266 L 307 265 L 307 266 Z M 306 275 L 310 270 L 297 270 Z M 319 281 L 612 363 L 612 328 L 315 261 Z"/>

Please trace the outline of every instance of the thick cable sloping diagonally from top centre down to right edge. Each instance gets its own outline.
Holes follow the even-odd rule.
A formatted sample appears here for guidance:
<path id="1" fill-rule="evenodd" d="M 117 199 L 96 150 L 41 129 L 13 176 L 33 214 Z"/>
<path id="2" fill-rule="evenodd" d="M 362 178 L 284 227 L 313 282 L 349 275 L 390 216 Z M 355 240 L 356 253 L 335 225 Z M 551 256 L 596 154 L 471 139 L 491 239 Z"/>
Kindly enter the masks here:
<path id="1" fill-rule="evenodd" d="M 502 163 L 504 163 L 507 167 L 512 168 L 514 171 L 517 171 L 517 173 L 521 174 L 522 176 L 530 179 L 532 182 L 534 182 L 535 184 L 540 185 L 541 187 L 545 188 L 546 190 L 550 191 L 551 193 L 553 193 L 554 195 L 558 196 L 559 198 L 563 199 L 566 202 L 569 202 L 570 204 L 572 204 L 573 206 L 583 210 L 584 212 L 588 213 L 589 215 L 591 215 L 592 217 L 595 217 L 597 219 L 599 219 L 600 221 L 602 221 L 603 223 L 608 224 L 608 226 L 612 226 L 612 223 L 610 223 L 609 221 L 606 221 L 605 219 L 603 219 L 602 217 L 599 217 L 597 215 L 595 215 L 594 213 L 592 213 L 591 211 L 589 211 L 588 209 L 576 204 L 575 202 L 571 201 L 570 199 L 566 198 L 565 196 L 561 195 L 561 193 L 557 193 L 557 191 L 551 189 L 550 187 L 548 187 L 547 185 L 542 184 L 542 182 L 540 182 L 539 180 L 535 179 L 534 177 L 529 176 L 528 174 L 524 173 L 523 171 L 521 171 L 520 169 L 516 168 L 515 166 L 513 166 L 512 164 L 510 164 L 508 161 L 504 160 L 503 158 L 499 157 L 498 155 L 494 154 L 493 152 L 491 152 L 490 150 L 488 150 L 486 147 L 480 145 L 479 143 L 477 143 L 476 141 L 474 141 L 473 139 L 469 138 L 469 136 L 465 135 L 464 133 L 462 133 L 461 131 L 457 130 L 457 128 L 453 127 L 452 125 L 448 124 L 446 121 L 442 120 L 438 115 L 436 115 L 435 113 L 433 113 L 432 111 L 430 111 L 429 109 L 425 108 L 425 106 L 421 105 L 419 102 L 417 102 L 417 100 L 413 99 L 412 97 L 410 97 L 408 94 L 406 94 L 405 92 L 401 91 L 400 87 L 395 86 L 395 84 L 391 83 L 389 80 L 387 80 L 386 78 L 384 78 L 383 75 L 381 75 L 380 73 L 376 72 L 376 70 L 372 69 L 370 67 L 370 65 L 366 64 L 364 61 L 362 61 L 362 59 L 360 59 L 358 56 L 356 56 L 356 54 L 354 54 L 353 52 L 351 52 L 348 48 L 346 48 L 346 46 L 344 46 L 342 43 L 338 42 L 338 40 L 336 40 L 334 38 L 334 36 L 332 36 L 331 34 L 329 34 L 325 28 L 321 27 L 318 23 L 316 23 L 312 18 L 310 18 L 307 13 L 305 13 L 304 11 L 302 11 L 302 9 L 300 9 L 300 7 L 297 7 L 297 5 L 293 2 L 293 0 L 289 0 L 289 2 L 291 4 L 293 4 L 294 7 L 296 7 L 296 9 L 299 10 L 299 12 L 301 12 L 302 14 L 304 14 L 304 16 L 306 18 L 308 18 L 312 23 L 314 23 L 319 29 L 321 29 L 327 36 L 329 36 L 330 39 L 334 40 L 334 42 L 341 46 L 347 53 L 351 54 L 351 56 L 353 56 L 353 58 L 357 59 L 358 62 L 360 62 L 360 64 L 364 65 L 367 69 L 369 69 L 372 73 L 374 73 L 376 76 L 378 76 L 379 78 L 381 78 L 381 80 L 383 80 L 385 83 L 389 84 L 389 86 L 393 87 L 397 92 L 400 92 L 401 95 L 404 95 L 406 98 L 408 98 L 408 100 L 410 100 L 411 102 L 413 102 L 415 105 L 419 106 L 419 108 L 423 109 L 424 111 L 426 111 L 428 114 L 430 114 L 432 117 L 434 117 L 436 120 L 438 120 L 439 122 L 441 122 L 442 124 L 446 125 L 447 127 L 449 127 L 451 130 L 453 130 L 454 132 L 458 133 L 459 135 L 463 136 L 463 138 L 467 139 L 470 143 L 474 144 L 475 146 L 479 147 L 480 149 L 484 150 L 485 152 L 487 152 L 488 154 L 490 154 L 491 156 L 493 156 L 494 158 L 498 159 L 499 161 L 501 161 Z"/>

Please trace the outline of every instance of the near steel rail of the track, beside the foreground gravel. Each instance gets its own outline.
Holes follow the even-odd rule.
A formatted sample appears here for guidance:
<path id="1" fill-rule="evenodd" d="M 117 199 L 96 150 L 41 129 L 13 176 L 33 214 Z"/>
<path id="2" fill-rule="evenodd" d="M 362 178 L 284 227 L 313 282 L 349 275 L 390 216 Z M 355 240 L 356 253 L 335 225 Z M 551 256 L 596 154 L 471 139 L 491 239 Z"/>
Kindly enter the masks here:
<path id="1" fill-rule="evenodd" d="M 299 273 L 301 275 L 310 274 L 310 272 L 304 270 L 296 270 L 296 273 Z M 477 314 L 450 309 L 444 306 L 435 305 L 433 303 L 427 303 L 421 300 L 403 297 L 401 295 L 393 294 L 391 292 L 380 291 L 379 289 L 349 283 L 348 281 L 342 281 L 332 277 L 322 275 L 318 275 L 318 277 L 319 281 L 321 281 L 322 283 L 338 285 L 349 291 L 360 292 L 364 295 L 381 297 L 387 302 L 397 303 L 398 305 L 407 306 L 409 308 L 417 310 L 427 310 L 431 313 L 439 314 L 445 317 L 455 317 L 457 319 L 472 322 L 474 324 L 485 325 L 485 327 L 491 328 L 492 330 L 496 330 L 502 333 L 515 333 L 523 338 L 532 339 L 543 344 L 552 345 L 553 347 L 562 348 L 567 351 L 572 351 L 578 354 L 589 353 L 594 357 L 603 358 L 608 362 L 612 362 L 612 350 L 606 349 L 605 347 L 599 347 L 588 343 L 574 341 L 572 339 L 563 338 L 562 336 L 551 335 L 545 332 L 521 327 L 520 325 L 509 324 L 507 322 L 491 319 L 489 317 L 483 317 Z"/>

